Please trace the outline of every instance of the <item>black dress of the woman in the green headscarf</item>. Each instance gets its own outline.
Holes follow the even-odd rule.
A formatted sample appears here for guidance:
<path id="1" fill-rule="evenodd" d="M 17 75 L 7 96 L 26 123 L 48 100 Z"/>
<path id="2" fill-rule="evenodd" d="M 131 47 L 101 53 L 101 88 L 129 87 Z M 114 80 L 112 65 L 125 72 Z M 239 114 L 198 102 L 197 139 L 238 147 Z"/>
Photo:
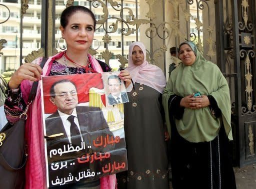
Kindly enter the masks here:
<path id="1" fill-rule="evenodd" d="M 174 122 L 183 116 L 184 108 L 179 106 L 181 98 L 176 95 L 169 98 L 169 118 L 173 125 L 170 138 L 173 189 L 236 189 L 224 126 L 220 126 L 212 141 L 188 142 L 178 134 Z M 220 117 L 215 99 L 212 96 L 208 99 L 214 116 Z"/>

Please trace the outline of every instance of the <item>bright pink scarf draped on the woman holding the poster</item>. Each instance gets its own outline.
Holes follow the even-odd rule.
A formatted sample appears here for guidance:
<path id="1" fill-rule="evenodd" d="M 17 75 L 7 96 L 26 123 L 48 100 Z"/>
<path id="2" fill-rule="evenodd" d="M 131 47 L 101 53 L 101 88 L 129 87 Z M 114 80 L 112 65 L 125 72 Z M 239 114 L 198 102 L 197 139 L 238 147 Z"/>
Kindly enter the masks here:
<path id="1" fill-rule="evenodd" d="M 55 59 L 62 57 L 64 52 L 49 57 L 43 69 L 42 76 L 49 75 L 51 65 Z M 94 57 L 89 55 L 92 68 L 97 72 L 102 72 L 102 68 Z M 40 64 L 42 58 L 35 59 L 32 63 Z M 22 97 L 27 103 L 28 95 L 32 86 L 31 81 L 23 80 L 20 89 Z M 39 110 L 39 111 L 36 111 Z M 38 83 L 36 96 L 29 107 L 26 120 L 25 138 L 28 146 L 28 159 L 25 168 L 25 189 L 46 189 L 46 165 L 44 156 L 43 126 L 41 113 L 41 92 Z M 100 179 L 100 189 L 116 189 L 115 175 L 106 176 Z"/>

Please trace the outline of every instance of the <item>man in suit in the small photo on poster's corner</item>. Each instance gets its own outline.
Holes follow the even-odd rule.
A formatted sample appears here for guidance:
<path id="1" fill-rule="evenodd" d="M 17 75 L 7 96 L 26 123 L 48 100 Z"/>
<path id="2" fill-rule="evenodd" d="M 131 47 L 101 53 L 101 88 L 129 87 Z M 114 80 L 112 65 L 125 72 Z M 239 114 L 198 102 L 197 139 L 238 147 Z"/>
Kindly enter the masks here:
<path id="1" fill-rule="evenodd" d="M 110 75 L 107 78 L 107 85 L 110 94 L 107 95 L 109 105 L 128 102 L 126 92 L 121 92 L 121 79 L 117 75 Z"/>

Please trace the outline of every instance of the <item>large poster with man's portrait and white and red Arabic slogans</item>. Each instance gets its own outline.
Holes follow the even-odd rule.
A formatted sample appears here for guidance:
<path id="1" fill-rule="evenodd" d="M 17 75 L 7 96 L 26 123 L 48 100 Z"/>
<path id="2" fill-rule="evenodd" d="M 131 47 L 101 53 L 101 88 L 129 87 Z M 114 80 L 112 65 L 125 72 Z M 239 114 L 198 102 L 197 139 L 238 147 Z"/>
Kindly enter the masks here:
<path id="1" fill-rule="evenodd" d="M 107 79 L 118 73 L 42 77 L 47 187 L 127 170 L 123 129 L 127 101 L 109 105 L 106 97 Z M 125 90 L 123 82 L 120 85 Z"/>

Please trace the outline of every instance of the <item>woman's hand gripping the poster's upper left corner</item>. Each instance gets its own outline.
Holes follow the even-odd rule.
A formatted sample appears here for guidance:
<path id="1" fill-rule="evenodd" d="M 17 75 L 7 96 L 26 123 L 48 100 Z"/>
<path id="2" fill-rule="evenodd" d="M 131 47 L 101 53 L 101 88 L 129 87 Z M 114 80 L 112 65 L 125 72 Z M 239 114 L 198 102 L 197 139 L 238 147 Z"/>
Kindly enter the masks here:
<path id="1" fill-rule="evenodd" d="M 17 71 L 11 76 L 8 86 L 10 89 L 16 89 L 21 81 L 28 79 L 30 81 L 38 81 L 41 78 L 42 69 L 37 64 L 22 64 Z"/>

